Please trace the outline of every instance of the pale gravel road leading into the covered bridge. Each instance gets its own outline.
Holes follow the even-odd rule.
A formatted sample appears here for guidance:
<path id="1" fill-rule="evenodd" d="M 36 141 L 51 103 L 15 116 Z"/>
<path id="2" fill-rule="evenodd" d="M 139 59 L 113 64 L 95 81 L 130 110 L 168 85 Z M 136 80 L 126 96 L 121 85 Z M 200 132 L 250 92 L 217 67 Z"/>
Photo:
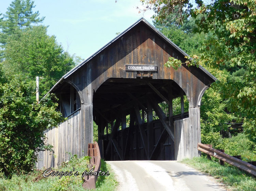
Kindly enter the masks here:
<path id="1" fill-rule="evenodd" d="M 118 191 L 224 191 L 214 178 L 177 161 L 108 161 Z"/>

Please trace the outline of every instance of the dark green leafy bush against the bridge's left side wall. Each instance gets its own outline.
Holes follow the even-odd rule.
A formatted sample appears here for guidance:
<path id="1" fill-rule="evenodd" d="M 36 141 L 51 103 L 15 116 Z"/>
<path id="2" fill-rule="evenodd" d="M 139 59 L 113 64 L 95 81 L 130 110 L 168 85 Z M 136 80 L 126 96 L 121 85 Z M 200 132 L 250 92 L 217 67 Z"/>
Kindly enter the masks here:
<path id="1" fill-rule="evenodd" d="M 63 120 L 51 96 L 37 104 L 33 94 L 35 87 L 22 75 L 0 84 L 0 171 L 5 176 L 30 171 L 35 153 L 49 148 L 43 130 Z"/>

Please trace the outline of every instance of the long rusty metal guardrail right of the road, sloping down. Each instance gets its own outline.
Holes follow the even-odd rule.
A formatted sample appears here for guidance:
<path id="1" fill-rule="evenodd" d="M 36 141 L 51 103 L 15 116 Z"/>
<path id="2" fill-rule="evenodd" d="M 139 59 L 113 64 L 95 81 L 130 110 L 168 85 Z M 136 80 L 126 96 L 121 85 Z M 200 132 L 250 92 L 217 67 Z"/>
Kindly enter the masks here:
<path id="1" fill-rule="evenodd" d="M 227 163 L 231 164 L 232 166 L 238 167 L 241 170 L 244 170 L 244 171 L 256 176 L 256 167 L 253 166 L 252 164 L 249 164 L 248 162 L 245 162 L 245 161 L 242 161 L 235 157 L 232 157 L 226 153 L 218 151 L 217 149 L 213 149 L 210 146 L 204 145 L 202 143 L 197 144 L 197 149 L 203 153 L 211 155 L 219 160 L 227 162 Z"/>

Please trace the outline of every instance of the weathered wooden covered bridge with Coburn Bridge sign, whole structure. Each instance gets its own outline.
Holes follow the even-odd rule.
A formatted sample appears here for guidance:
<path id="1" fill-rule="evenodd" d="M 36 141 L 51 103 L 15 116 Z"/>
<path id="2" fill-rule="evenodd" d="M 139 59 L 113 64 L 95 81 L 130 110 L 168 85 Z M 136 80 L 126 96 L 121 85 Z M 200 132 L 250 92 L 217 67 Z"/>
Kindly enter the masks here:
<path id="1" fill-rule="evenodd" d="M 83 156 L 98 125 L 106 160 L 180 160 L 198 156 L 200 102 L 216 78 L 203 67 L 164 67 L 187 54 L 143 18 L 64 75 L 49 91 L 67 121 L 45 130 L 54 153 L 39 153 L 38 168 Z M 173 99 L 181 98 L 173 115 Z M 184 98 L 188 102 L 184 111 Z M 187 99 L 187 101 L 186 101 Z M 168 108 L 163 111 L 159 103 Z"/>

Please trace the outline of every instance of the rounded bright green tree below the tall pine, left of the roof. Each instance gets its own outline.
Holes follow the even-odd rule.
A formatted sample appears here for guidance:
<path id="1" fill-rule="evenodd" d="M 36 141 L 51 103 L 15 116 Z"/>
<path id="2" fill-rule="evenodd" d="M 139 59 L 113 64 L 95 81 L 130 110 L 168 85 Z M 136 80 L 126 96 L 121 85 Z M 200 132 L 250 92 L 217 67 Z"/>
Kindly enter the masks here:
<path id="1" fill-rule="evenodd" d="M 45 94 L 75 63 L 57 44 L 55 36 L 47 35 L 47 27 L 33 26 L 7 38 L 4 50 L 4 69 L 22 73 L 32 81 L 40 80 L 40 93 Z"/>

